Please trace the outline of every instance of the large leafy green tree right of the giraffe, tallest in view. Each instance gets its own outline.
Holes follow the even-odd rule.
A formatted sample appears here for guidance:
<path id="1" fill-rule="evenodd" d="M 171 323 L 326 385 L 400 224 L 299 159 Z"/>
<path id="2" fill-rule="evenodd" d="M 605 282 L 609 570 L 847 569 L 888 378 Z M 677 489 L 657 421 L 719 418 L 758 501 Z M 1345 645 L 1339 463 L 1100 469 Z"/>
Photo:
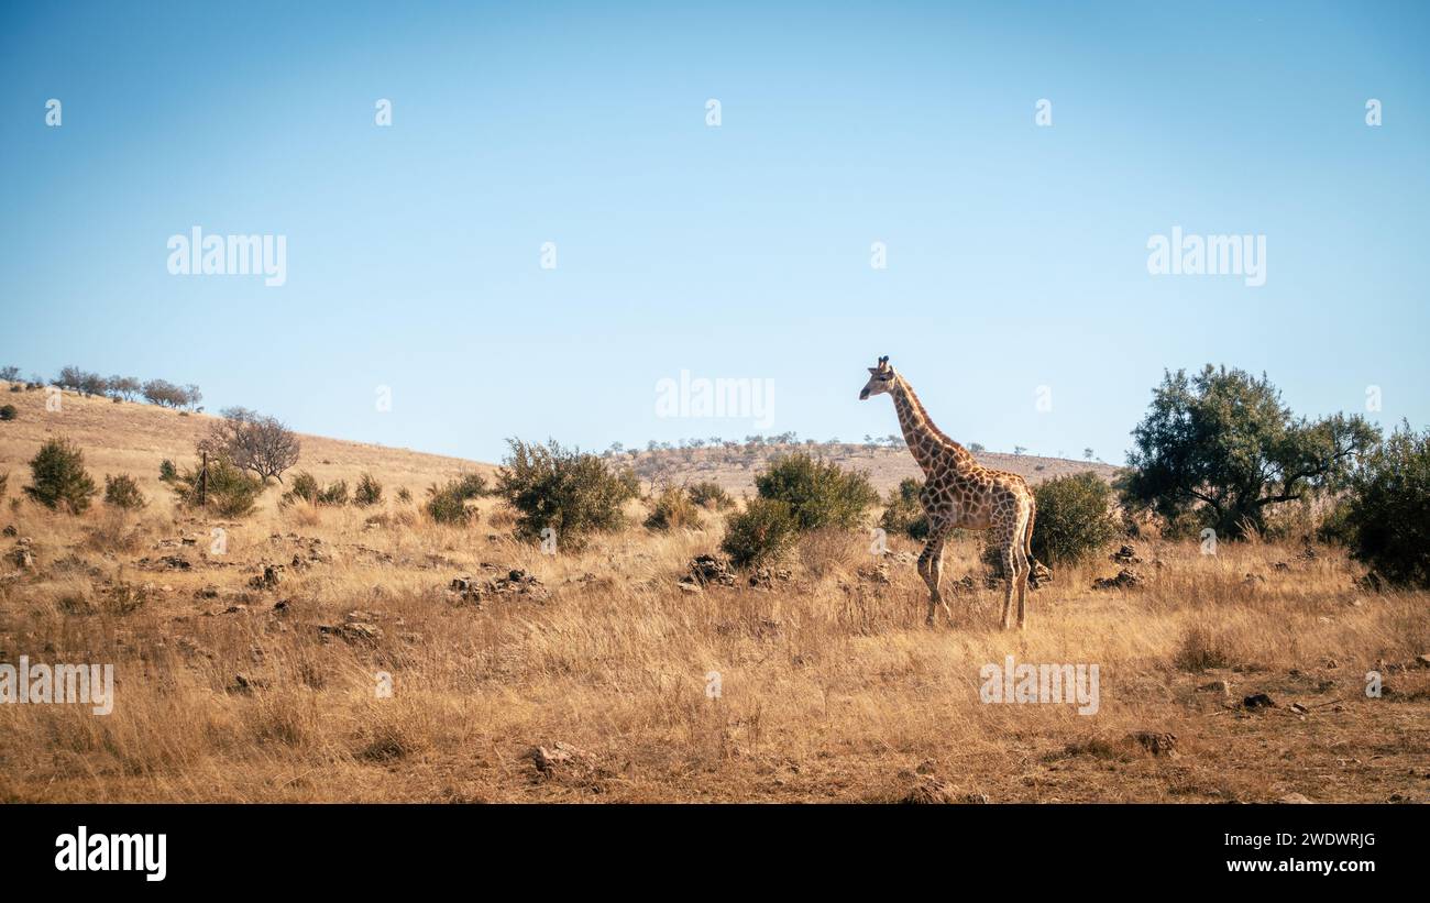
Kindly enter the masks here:
<path id="1" fill-rule="evenodd" d="M 1336 489 L 1377 437 L 1360 416 L 1293 417 L 1266 374 L 1178 370 L 1153 390 L 1133 430 L 1123 490 L 1170 523 L 1191 516 L 1240 537 L 1264 529 L 1266 506 Z"/>

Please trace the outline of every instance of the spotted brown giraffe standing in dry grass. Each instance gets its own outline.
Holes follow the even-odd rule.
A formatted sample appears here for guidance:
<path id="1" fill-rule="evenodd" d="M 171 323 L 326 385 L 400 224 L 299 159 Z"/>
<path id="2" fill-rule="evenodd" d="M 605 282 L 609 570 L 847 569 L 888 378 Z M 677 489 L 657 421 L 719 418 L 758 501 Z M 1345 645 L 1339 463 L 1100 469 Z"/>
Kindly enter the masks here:
<path id="1" fill-rule="evenodd" d="M 859 391 L 859 400 L 888 393 L 904 429 L 904 441 L 914 460 L 924 470 L 924 490 L 919 504 L 928 514 L 928 542 L 918 556 L 918 574 L 928 584 L 928 619 L 934 624 L 934 610 L 948 610 L 940 593 L 944 572 L 944 543 L 955 527 L 964 530 L 992 530 L 992 540 L 1002 549 L 1002 570 L 1008 574 L 1008 590 L 1002 600 L 1002 629 L 1008 629 L 1012 594 L 1018 593 L 1018 630 L 1027 626 L 1028 574 L 1032 572 L 1032 520 L 1037 503 L 1027 480 L 1015 473 L 982 467 L 961 444 L 934 426 L 914 389 L 879 357 L 869 367 L 869 381 Z"/>

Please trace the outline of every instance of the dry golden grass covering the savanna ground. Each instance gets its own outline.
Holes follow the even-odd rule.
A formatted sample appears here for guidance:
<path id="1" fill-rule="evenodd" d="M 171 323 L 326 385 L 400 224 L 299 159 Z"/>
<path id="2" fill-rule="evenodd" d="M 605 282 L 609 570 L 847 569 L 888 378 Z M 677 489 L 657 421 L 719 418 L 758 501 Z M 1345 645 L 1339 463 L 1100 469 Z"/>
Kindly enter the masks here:
<path id="1" fill-rule="evenodd" d="M 1031 594 L 1020 634 L 997 629 L 1001 593 L 981 589 L 964 543 L 945 586 L 971 573 L 980 589 L 950 593 L 955 623 L 931 630 L 912 563 L 889 560 L 881 582 L 862 536 L 807 537 L 791 579 L 769 589 L 691 593 L 676 582 L 718 546 L 719 514 L 552 557 L 511 540 L 490 500 L 465 530 L 392 500 L 406 484 L 420 503 L 426 483 L 469 463 L 370 446 L 323 440 L 316 454 L 342 463 L 310 466 L 305 444 L 300 466 L 322 480 L 370 470 L 388 484 L 376 509 L 279 509 L 269 490 L 253 517 L 210 523 L 152 479 L 177 440 L 142 447 L 149 433 L 124 426 L 187 419 L 84 400 L 76 413 L 92 404 L 104 423 L 86 429 L 104 431 L 69 421 L 69 434 L 93 473 L 150 474 L 150 506 L 67 517 L 0 502 L 37 560 L 0 577 L 0 660 L 114 663 L 114 710 L 0 706 L 0 800 L 894 800 L 918 767 L 951 799 L 994 802 L 1426 799 L 1430 670 L 1399 666 L 1430 652 L 1430 594 L 1361 593 L 1334 550 L 1307 562 L 1277 544 L 1224 543 L 1213 557 L 1141 543 L 1163 562 L 1140 566 L 1145 587 L 1091 590 L 1117 572 L 1105 559 L 1061 569 Z M 40 439 L 11 426 L 0 470 L 16 474 L 14 499 Z M 225 554 L 209 553 L 214 526 Z M 192 570 L 137 564 L 164 554 Z M 249 587 L 265 563 L 287 566 L 282 582 Z M 446 592 L 455 576 L 511 569 L 549 596 L 476 607 Z M 320 630 L 349 620 L 380 636 Z M 1010 653 L 1097 663 L 1100 712 L 981 703 L 980 669 Z M 1371 669 L 1391 696 L 1364 696 Z M 382 672 L 390 699 L 376 693 Z M 1233 699 L 1197 689 L 1217 679 Z M 1253 692 L 1277 707 L 1240 710 Z M 1130 749 L 1141 730 L 1177 734 L 1178 754 Z M 588 756 L 538 772 L 528 750 L 558 742 Z"/>

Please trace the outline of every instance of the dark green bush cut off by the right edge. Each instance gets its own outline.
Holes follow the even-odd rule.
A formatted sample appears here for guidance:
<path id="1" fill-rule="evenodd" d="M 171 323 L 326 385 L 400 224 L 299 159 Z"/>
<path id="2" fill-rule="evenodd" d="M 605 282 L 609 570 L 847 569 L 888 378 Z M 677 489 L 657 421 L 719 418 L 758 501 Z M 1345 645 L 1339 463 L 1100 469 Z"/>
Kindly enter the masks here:
<path id="1" fill-rule="evenodd" d="M 1351 474 L 1340 529 L 1351 556 L 1394 586 L 1430 586 L 1430 430 L 1403 424 Z"/>

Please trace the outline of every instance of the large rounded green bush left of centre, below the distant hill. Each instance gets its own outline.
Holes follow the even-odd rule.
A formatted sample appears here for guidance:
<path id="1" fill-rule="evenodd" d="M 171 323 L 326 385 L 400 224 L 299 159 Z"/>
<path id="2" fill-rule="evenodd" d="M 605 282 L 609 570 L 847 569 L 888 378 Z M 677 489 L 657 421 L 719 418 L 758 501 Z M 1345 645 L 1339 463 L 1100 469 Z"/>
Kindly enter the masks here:
<path id="1" fill-rule="evenodd" d="M 539 539 L 551 527 L 563 547 L 575 550 L 591 533 L 625 526 L 621 507 L 641 492 L 633 472 L 555 441 L 542 446 L 512 439 L 508 444 L 496 492 L 516 509 L 518 534 Z"/>

